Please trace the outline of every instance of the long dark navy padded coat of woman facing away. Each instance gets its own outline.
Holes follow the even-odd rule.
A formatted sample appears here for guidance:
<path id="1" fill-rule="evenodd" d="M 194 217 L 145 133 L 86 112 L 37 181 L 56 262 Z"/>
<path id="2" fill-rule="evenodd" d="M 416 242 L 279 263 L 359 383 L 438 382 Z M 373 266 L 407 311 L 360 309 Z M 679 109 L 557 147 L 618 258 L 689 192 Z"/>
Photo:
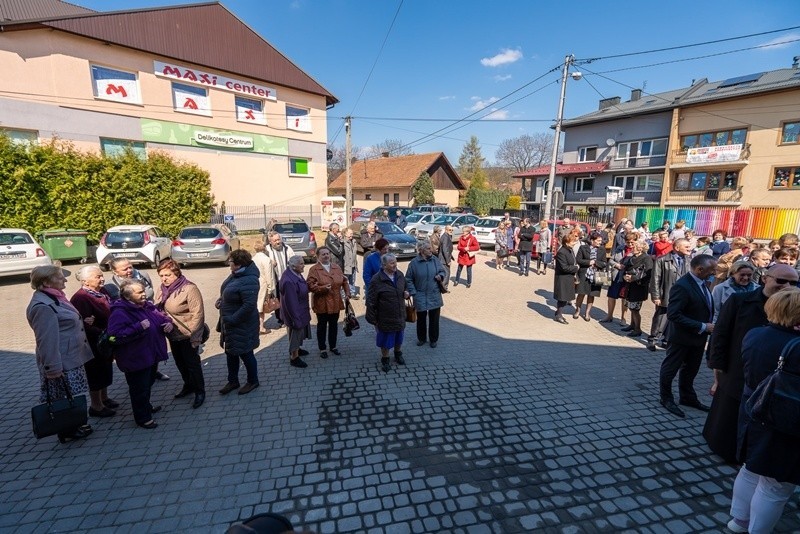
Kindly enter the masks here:
<path id="1" fill-rule="evenodd" d="M 251 263 L 222 282 L 222 340 L 225 352 L 247 354 L 261 343 L 258 337 L 258 267 Z"/>

